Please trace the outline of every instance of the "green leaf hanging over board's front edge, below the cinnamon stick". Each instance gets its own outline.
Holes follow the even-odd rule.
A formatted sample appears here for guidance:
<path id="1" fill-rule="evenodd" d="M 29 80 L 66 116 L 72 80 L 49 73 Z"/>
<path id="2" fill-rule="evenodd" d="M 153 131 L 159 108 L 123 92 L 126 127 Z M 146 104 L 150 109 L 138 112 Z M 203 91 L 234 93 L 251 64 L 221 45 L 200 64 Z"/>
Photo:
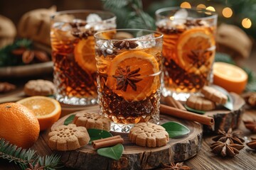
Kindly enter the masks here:
<path id="1" fill-rule="evenodd" d="M 114 145 L 114 147 L 104 147 L 97 149 L 97 153 L 103 157 L 109 157 L 114 160 L 120 159 L 122 152 L 124 151 L 124 146 L 122 144 Z"/>

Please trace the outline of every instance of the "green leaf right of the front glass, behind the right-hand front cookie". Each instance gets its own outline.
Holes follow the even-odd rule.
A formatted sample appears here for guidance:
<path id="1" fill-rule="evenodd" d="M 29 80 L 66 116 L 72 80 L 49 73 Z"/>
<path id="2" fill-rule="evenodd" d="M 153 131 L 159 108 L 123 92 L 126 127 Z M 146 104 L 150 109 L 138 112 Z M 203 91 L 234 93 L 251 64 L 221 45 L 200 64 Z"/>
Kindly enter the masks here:
<path id="1" fill-rule="evenodd" d="M 169 133 L 170 138 L 181 137 L 183 135 L 187 135 L 190 132 L 190 130 L 186 128 L 186 126 L 177 122 L 164 123 L 161 126 L 166 129 L 166 131 Z"/>

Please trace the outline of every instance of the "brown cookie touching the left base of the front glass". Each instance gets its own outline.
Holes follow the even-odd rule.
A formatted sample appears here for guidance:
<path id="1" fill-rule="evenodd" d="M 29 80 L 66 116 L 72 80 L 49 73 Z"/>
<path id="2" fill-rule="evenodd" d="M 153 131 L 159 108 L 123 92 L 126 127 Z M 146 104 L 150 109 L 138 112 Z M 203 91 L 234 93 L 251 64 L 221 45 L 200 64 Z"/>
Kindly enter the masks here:
<path id="1" fill-rule="evenodd" d="M 110 119 L 98 113 L 80 111 L 75 114 L 74 124 L 87 129 L 100 129 L 110 131 Z"/>

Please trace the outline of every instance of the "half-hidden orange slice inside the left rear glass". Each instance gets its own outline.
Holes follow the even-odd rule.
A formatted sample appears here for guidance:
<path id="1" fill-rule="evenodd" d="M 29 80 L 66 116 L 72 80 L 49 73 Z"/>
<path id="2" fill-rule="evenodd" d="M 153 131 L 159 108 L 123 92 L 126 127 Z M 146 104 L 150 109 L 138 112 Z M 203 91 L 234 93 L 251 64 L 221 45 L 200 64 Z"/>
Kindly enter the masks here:
<path id="1" fill-rule="evenodd" d="M 75 62 L 87 72 L 97 71 L 95 60 L 95 42 L 93 36 L 79 40 L 74 50 Z"/>

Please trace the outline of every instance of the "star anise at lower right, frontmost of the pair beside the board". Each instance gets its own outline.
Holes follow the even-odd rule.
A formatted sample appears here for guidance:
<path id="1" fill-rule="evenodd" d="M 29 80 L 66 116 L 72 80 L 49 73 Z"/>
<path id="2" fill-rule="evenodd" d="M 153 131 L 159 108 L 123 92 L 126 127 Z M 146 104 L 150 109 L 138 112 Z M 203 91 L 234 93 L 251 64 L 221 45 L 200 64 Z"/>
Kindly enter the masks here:
<path id="1" fill-rule="evenodd" d="M 210 149 L 214 154 L 220 154 L 222 157 L 234 157 L 235 154 L 239 154 L 239 150 L 244 146 L 233 143 L 232 140 L 228 139 L 225 142 L 214 142 Z"/>

